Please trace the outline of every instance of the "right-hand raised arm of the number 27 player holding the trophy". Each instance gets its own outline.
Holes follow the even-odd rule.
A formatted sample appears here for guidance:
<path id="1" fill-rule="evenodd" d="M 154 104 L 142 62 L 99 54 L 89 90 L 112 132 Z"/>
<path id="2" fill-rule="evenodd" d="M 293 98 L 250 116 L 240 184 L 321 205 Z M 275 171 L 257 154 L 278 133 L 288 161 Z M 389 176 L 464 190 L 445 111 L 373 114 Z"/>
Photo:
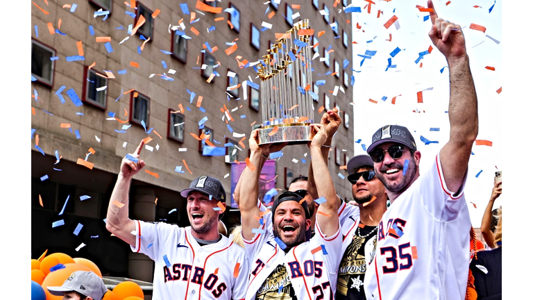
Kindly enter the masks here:
<path id="1" fill-rule="evenodd" d="M 316 213 L 316 222 L 319 224 L 320 230 L 326 237 L 330 237 L 339 230 L 339 215 L 337 214 L 337 192 L 333 186 L 328 166 L 325 165 L 322 156 L 322 145 L 327 139 L 325 127 L 321 124 L 311 125 L 310 150 L 311 150 L 311 164 L 316 174 L 321 174 L 321 179 L 316 181 L 316 192 L 319 197 L 324 197 L 325 202 L 319 205 L 319 210 Z"/>

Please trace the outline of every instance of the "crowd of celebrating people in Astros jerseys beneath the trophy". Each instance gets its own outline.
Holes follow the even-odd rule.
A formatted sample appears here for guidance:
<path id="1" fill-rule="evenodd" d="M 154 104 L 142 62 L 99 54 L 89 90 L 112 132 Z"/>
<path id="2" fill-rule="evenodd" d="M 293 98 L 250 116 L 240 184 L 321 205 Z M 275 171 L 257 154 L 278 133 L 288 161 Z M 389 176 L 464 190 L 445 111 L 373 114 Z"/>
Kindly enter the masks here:
<path id="1" fill-rule="evenodd" d="M 367 155 L 349 160 L 353 202 L 342 201 L 328 171 L 341 124 L 334 108 L 310 124 L 308 176 L 267 207 L 258 199 L 261 169 L 287 143 L 260 144 L 256 129 L 248 139 L 251 164 L 233 195 L 241 224 L 228 232 L 220 222 L 226 191 L 208 175 L 181 192 L 190 226 L 130 219 L 130 182 L 146 165 L 140 156 L 144 143 L 122 160 L 106 226 L 132 251 L 154 260 L 153 299 L 501 297 L 501 210 L 496 233 L 490 230 L 501 182 L 482 223 L 491 250 L 470 251 L 472 224 L 463 191 L 478 122 L 464 35 L 459 24 L 437 16 L 431 0 L 428 8 L 429 36 L 449 67 L 450 139 L 429 158 L 425 174 L 409 129 L 387 124 L 373 134 Z M 475 297 L 466 293 L 469 274 Z"/>

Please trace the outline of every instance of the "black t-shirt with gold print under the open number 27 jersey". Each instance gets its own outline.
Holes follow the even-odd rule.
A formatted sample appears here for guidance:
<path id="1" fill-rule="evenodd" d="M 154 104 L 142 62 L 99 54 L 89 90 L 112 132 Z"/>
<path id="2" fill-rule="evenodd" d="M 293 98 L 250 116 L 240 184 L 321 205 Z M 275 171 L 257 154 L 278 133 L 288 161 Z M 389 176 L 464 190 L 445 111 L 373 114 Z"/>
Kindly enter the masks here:
<path id="1" fill-rule="evenodd" d="M 272 271 L 259 290 L 257 290 L 255 299 L 298 300 L 285 265 L 278 265 Z"/>

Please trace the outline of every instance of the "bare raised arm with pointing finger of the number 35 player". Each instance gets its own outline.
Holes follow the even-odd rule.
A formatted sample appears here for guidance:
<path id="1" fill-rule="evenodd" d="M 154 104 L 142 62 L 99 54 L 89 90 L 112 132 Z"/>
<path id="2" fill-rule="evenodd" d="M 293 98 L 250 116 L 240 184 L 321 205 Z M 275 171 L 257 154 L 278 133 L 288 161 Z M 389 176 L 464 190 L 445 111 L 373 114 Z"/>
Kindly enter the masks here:
<path id="1" fill-rule="evenodd" d="M 433 8 L 429 36 L 446 57 L 450 69 L 450 140 L 441 149 L 440 156 L 446 186 L 457 192 L 466 176 L 477 137 L 477 95 L 461 26 L 439 18 L 431 0 L 428 8 Z"/>

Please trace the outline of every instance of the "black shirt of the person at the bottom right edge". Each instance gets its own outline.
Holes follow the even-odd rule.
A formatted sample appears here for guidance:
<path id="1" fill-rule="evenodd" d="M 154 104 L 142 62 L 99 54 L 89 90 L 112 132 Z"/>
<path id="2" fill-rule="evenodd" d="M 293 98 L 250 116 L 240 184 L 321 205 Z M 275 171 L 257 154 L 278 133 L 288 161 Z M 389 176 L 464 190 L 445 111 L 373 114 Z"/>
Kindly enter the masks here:
<path id="1" fill-rule="evenodd" d="M 470 269 L 478 300 L 502 299 L 502 247 L 477 252 Z"/>

